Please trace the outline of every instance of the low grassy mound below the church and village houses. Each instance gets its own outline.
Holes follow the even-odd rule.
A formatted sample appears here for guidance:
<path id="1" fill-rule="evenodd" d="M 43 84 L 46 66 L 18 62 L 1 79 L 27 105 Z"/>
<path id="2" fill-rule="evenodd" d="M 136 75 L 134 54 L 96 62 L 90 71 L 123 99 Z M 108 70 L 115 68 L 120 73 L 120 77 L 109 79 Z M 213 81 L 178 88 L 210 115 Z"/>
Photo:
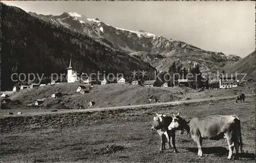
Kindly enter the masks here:
<path id="1" fill-rule="evenodd" d="M 88 102 L 93 101 L 95 105 L 90 108 L 127 106 L 150 103 L 149 98 L 154 102 L 169 102 L 181 99 L 186 92 L 194 91 L 190 88 L 180 87 L 143 87 L 131 84 L 106 84 L 94 85 L 87 94 L 81 95 L 76 92 L 79 83 L 60 83 L 47 85 L 38 88 L 23 89 L 14 92 L 10 96 L 12 101 L 19 100 L 22 106 L 8 105 L 13 108 L 51 108 L 51 109 L 77 109 L 88 108 Z M 89 86 L 88 86 L 89 88 Z M 59 91 L 63 94 L 60 98 L 51 98 L 51 95 Z M 151 97 L 153 96 L 153 97 Z M 27 106 L 35 103 L 36 99 L 46 98 L 44 103 L 36 106 Z"/>

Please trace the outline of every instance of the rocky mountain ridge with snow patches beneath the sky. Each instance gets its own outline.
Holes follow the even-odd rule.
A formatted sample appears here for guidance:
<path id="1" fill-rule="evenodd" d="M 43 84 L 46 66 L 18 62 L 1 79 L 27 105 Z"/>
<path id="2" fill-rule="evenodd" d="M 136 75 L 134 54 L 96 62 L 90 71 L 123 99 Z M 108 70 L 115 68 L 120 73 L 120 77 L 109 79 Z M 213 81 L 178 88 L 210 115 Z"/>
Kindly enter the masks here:
<path id="1" fill-rule="evenodd" d="M 185 67 L 199 63 L 202 71 L 212 72 L 240 59 L 235 55 L 205 51 L 182 41 L 168 40 L 144 31 L 136 32 L 112 27 L 98 18 L 87 18 L 75 12 L 64 12 L 59 16 L 31 12 L 29 14 L 92 36 L 105 45 L 150 63 L 159 71 L 167 71 L 173 62 L 179 62 Z"/>

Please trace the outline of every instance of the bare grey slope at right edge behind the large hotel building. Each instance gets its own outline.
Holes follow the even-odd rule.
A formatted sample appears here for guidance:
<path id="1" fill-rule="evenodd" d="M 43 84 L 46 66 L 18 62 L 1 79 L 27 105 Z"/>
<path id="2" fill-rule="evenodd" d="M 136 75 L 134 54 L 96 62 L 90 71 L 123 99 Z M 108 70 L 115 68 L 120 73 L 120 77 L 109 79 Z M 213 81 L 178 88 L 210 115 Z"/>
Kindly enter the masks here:
<path id="1" fill-rule="evenodd" d="M 226 74 L 247 74 L 244 80 L 253 79 L 255 80 L 255 57 L 256 53 L 255 51 L 251 54 L 247 55 L 246 57 L 242 58 L 241 60 L 227 65 L 223 67 L 222 69 Z M 239 75 L 238 79 L 241 80 L 244 77 L 244 75 Z"/>

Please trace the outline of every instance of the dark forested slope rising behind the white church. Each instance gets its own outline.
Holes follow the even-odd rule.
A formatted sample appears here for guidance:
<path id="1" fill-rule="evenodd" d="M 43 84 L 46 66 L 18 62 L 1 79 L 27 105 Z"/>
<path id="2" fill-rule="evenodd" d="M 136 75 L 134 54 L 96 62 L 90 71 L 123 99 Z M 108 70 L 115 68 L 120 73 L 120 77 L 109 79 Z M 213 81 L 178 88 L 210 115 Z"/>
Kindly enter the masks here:
<path id="1" fill-rule="evenodd" d="M 13 73 L 34 73 L 50 77 L 66 74 L 72 56 L 78 72 L 123 73 L 140 69 L 147 77 L 156 70 L 150 64 L 131 57 L 94 38 L 62 26 L 39 20 L 16 7 L 2 5 L 2 90 L 15 84 Z"/>

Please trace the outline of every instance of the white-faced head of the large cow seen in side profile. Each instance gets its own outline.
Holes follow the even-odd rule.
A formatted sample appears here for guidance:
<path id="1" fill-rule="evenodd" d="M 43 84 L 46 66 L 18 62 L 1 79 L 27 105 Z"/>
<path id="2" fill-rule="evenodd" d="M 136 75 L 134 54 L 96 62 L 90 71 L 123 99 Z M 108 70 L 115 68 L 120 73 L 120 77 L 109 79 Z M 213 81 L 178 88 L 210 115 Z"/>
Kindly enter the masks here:
<path id="1" fill-rule="evenodd" d="M 183 118 L 180 117 L 179 113 L 174 113 L 174 119 L 168 126 L 168 130 L 181 130 L 180 134 L 183 134 L 183 129 L 188 123 L 189 121 L 186 122 Z"/>

